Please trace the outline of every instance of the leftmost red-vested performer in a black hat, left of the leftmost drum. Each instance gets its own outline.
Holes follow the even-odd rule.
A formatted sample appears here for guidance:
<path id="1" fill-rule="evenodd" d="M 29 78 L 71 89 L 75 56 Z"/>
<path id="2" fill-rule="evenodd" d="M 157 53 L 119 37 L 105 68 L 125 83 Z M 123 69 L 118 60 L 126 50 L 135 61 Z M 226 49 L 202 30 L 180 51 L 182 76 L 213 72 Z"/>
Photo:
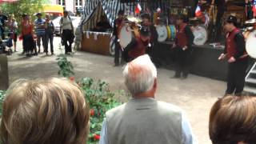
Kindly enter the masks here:
<path id="1" fill-rule="evenodd" d="M 118 18 L 114 20 L 114 31 L 113 31 L 113 35 L 115 36 L 115 39 L 114 39 L 114 44 L 115 44 L 115 46 L 114 46 L 114 66 L 119 66 L 119 64 L 120 64 L 119 54 L 120 54 L 120 51 L 122 50 L 122 48 L 120 46 L 120 43 L 118 42 L 118 34 L 122 28 L 123 19 L 124 19 L 124 11 L 119 10 Z M 122 59 L 121 59 L 121 62 L 122 62 Z"/>

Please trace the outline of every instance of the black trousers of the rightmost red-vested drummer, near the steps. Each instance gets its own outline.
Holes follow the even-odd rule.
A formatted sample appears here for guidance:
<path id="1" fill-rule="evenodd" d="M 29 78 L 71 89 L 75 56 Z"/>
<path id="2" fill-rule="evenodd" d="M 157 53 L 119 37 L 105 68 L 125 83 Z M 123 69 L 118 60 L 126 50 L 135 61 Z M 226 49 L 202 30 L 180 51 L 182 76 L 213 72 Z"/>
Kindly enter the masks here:
<path id="1" fill-rule="evenodd" d="M 245 86 L 246 69 L 248 66 L 248 58 L 229 63 L 227 72 L 227 88 L 226 94 L 241 95 Z"/>

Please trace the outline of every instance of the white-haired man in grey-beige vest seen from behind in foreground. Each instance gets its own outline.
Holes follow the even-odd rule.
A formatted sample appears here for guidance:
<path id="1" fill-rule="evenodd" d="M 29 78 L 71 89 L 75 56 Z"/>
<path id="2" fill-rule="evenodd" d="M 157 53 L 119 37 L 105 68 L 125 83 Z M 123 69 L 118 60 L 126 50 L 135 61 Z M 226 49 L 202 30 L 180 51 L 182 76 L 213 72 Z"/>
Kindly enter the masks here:
<path id="1" fill-rule="evenodd" d="M 190 122 L 178 107 L 155 100 L 157 70 L 146 54 L 123 70 L 132 98 L 106 112 L 100 144 L 195 144 Z"/>

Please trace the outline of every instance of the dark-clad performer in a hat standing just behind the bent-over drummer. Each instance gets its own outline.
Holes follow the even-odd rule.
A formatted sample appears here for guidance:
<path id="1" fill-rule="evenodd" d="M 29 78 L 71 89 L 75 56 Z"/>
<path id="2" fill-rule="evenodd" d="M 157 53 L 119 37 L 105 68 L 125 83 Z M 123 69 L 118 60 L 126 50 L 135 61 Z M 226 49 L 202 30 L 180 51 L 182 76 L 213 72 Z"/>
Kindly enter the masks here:
<path id="1" fill-rule="evenodd" d="M 150 30 L 150 47 L 146 50 L 146 53 L 150 55 L 152 58 L 152 61 L 154 64 L 158 67 L 161 64 L 161 61 L 159 60 L 159 54 L 158 54 L 158 32 L 155 29 L 155 26 L 150 21 L 150 14 L 142 14 L 142 26 L 148 27 Z"/>

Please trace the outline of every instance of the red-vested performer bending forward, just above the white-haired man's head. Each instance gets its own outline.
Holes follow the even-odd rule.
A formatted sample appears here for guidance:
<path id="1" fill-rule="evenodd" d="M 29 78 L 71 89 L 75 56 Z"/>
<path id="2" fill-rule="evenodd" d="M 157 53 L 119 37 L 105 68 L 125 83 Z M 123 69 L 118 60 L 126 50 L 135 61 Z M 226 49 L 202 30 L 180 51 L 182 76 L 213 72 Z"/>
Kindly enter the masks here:
<path id="1" fill-rule="evenodd" d="M 124 59 L 130 62 L 139 56 L 146 54 L 146 49 L 150 46 L 150 30 L 147 26 L 142 26 L 139 35 L 132 38 L 130 44 L 124 49 Z"/>

